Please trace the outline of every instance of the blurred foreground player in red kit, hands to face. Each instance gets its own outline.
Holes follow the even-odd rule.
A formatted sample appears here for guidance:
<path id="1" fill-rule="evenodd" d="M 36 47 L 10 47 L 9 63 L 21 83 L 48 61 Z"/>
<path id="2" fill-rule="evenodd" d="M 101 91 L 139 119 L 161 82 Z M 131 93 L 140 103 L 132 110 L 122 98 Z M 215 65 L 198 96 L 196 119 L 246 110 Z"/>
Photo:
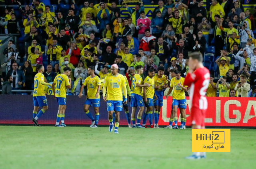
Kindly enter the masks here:
<path id="1" fill-rule="evenodd" d="M 203 56 L 200 52 L 194 52 L 189 56 L 189 71 L 184 85 L 190 87 L 190 119 L 192 129 L 205 129 L 204 119 L 208 108 L 206 89 L 210 83 L 210 72 L 203 66 Z M 194 152 L 186 159 L 205 158 L 205 152 Z"/>

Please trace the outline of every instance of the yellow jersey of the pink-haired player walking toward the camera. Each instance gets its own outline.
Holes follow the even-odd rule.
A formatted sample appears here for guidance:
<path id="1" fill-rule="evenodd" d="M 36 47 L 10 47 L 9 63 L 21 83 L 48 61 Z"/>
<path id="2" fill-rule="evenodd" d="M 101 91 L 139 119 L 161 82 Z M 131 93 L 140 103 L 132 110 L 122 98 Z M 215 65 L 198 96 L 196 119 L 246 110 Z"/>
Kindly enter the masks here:
<path id="1" fill-rule="evenodd" d="M 107 100 L 123 101 L 122 87 L 126 82 L 121 74 L 106 76 L 104 86 L 107 87 Z"/>

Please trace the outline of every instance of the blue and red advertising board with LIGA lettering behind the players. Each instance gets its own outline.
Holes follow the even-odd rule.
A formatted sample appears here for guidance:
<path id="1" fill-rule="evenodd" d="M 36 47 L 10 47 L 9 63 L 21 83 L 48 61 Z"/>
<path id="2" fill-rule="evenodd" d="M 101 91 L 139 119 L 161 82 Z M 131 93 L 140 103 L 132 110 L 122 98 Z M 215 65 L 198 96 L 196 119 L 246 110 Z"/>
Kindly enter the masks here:
<path id="1" fill-rule="evenodd" d="M 58 104 L 53 96 L 47 95 L 48 111 L 39 119 L 40 124 L 54 125 L 58 112 Z M 101 96 L 102 97 L 102 96 Z M 190 120 L 190 98 L 187 97 L 186 116 Z M 205 125 L 219 127 L 256 127 L 256 98 L 248 97 L 207 97 L 208 110 Z M 67 95 L 67 109 L 65 123 L 67 125 L 90 125 L 83 111 L 85 96 Z M 171 113 L 171 97 L 164 99 L 160 112 L 159 125 L 168 125 Z M 130 103 L 129 103 L 130 104 Z M 94 115 L 93 108 L 89 109 Z M 129 107 L 130 113 L 132 112 Z M 33 102 L 32 95 L 0 95 L 0 124 L 31 124 Z M 138 109 L 137 111 L 138 112 Z M 136 113 L 137 114 L 137 113 Z M 99 125 L 108 125 L 108 112 L 106 102 L 100 99 Z M 148 121 L 146 123 L 148 125 Z M 124 111 L 120 113 L 120 125 L 127 125 Z M 178 125 L 180 125 L 180 112 L 178 111 Z"/>

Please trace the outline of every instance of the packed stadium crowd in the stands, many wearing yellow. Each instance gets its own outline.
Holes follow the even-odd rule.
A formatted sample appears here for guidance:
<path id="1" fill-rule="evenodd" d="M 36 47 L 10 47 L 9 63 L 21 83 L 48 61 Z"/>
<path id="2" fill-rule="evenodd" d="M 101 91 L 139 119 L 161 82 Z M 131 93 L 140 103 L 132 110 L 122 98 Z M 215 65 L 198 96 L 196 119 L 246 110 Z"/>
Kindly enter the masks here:
<path id="1" fill-rule="evenodd" d="M 58 6 L 55 12 L 40 0 L 0 2 L 20 5 L 18 14 L 7 6 L 0 25 L 2 33 L 22 34 L 25 42 L 23 49 L 10 40 L 1 54 L 6 66 L 6 75 L 0 75 L 2 94 L 33 89 L 38 64 L 46 67 L 46 83 L 69 67 L 76 90 L 88 77 L 89 66 L 104 81 L 110 66 L 117 64 L 130 87 L 139 65 L 143 79 L 161 66 L 168 80 L 175 70 L 186 78 L 188 55 L 200 52 L 211 72 L 208 97 L 256 97 L 256 8 L 242 6 L 255 0 L 207 0 L 206 8 L 203 0 L 152 0 L 158 6 L 151 19 L 142 1 L 135 8 L 122 4 L 130 17 L 121 17 L 120 0 L 50 2 Z M 52 94 L 50 90 L 46 93 Z"/>

